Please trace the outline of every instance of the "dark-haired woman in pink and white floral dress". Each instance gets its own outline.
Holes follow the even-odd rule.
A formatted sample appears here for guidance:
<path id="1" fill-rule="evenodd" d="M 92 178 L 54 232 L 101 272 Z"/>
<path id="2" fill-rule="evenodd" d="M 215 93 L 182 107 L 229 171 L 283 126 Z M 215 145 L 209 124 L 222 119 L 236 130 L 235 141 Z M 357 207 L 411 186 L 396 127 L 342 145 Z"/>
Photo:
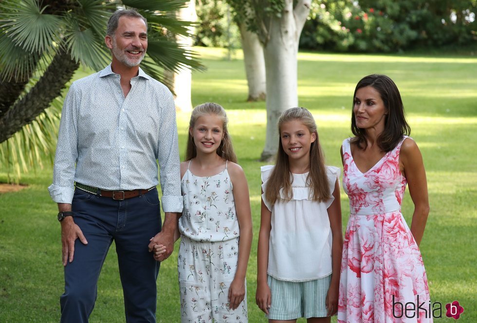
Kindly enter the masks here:
<path id="1" fill-rule="evenodd" d="M 373 74 L 358 82 L 351 130 L 355 137 L 341 147 L 351 215 L 338 323 L 432 322 L 419 251 L 429 213 L 425 170 L 389 77 Z M 410 230 L 401 214 L 406 183 L 414 203 Z"/>

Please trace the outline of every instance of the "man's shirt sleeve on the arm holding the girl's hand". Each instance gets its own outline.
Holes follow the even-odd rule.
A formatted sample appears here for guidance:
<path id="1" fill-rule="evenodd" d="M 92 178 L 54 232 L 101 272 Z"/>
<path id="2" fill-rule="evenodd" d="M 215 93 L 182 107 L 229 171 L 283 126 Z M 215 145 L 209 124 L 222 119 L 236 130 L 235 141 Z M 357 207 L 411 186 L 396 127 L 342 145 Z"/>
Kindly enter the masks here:
<path id="1" fill-rule="evenodd" d="M 177 138 L 176 108 L 172 93 L 165 90 L 159 129 L 157 160 L 162 188 L 164 212 L 182 212 L 181 169 Z"/>

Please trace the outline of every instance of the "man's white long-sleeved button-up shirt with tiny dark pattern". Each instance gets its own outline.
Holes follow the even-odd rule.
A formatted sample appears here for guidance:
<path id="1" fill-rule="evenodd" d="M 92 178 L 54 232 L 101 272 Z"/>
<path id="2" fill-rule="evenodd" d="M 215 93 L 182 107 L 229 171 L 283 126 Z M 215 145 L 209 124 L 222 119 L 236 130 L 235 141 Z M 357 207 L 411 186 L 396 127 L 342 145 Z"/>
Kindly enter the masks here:
<path id="1" fill-rule="evenodd" d="M 109 65 L 71 85 L 61 113 L 50 195 L 57 203 L 71 203 L 74 182 L 110 191 L 147 189 L 158 184 L 157 160 L 163 210 L 182 212 L 172 94 L 139 69 L 125 98 L 120 78 Z"/>

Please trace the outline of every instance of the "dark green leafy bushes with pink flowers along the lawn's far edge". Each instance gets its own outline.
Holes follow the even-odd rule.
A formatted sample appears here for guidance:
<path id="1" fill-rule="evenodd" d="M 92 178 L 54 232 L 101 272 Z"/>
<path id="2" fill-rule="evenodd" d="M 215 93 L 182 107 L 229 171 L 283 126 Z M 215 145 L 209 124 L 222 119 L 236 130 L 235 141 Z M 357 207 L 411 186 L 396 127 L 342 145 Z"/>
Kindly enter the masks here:
<path id="1" fill-rule="evenodd" d="M 476 46 L 476 14 L 476 0 L 319 0 L 300 46 L 359 52 Z"/>

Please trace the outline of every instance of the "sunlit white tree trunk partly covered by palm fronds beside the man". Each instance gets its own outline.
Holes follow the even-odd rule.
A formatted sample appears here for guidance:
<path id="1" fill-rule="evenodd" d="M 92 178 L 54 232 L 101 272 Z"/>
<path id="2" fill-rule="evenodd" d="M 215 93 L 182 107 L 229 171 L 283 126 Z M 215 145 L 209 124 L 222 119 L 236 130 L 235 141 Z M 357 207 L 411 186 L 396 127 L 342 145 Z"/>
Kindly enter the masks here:
<path id="1" fill-rule="evenodd" d="M 196 21 L 197 13 L 195 0 L 189 1 L 187 7 L 184 7 L 179 10 L 177 13 L 177 18 L 185 21 Z M 194 28 L 189 27 L 189 32 L 194 33 Z M 186 47 L 187 49 L 192 49 L 194 40 L 192 37 L 185 36 L 176 36 L 177 43 Z M 180 72 L 165 71 L 165 78 L 168 80 L 170 89 L 174 93 L 174 103 L 176 108 L 181 111 L 191 111 L 192 110 L 192 100 L 191 100 L 191 90 L 192 90 L 192 71 L 190 68 L 181 67 Z"/>

